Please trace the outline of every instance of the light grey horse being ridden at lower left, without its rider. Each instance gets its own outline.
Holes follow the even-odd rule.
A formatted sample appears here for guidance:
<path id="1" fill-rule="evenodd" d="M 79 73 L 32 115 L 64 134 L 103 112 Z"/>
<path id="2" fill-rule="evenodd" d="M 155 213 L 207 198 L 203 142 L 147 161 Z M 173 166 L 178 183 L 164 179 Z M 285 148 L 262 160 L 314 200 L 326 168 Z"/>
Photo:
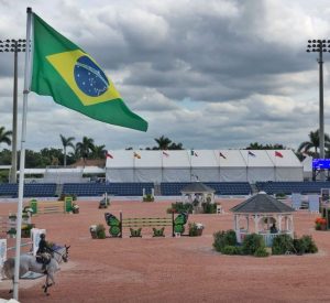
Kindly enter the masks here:
<path id="1" fill-rule="evenodd" d="M 24 275 L 28 271 L 33 271 L 37 273 L 44 273 L 46 275 L 45 284 L 43 285 L 44 293 L 48 295 L 48 288 L 55 284 L 54 275 L 56 271 L 59 270 L 59 263 L 62 261 L 67 262 L 68 261 L 68 249 L 69 246 L 64 247 L 57 247 L 53 250 L 53 256 L 48 264 L 46 264 L 46 269 L 43 270 L 43 264 L 36 261 L 36 258 L 32 255 L 22 255 L 20 257 L 20 278 Z M 14 282 L 14 267 L 15 267 L 15 260 L 14 258 L 10 258 L 3 263 L 2 272 L 8 278 L 11 279 L 12 282 Z M 50 283 L 50 280 L 52 283 Z M 10 290 L 12 292 L 12 290 Z"/>

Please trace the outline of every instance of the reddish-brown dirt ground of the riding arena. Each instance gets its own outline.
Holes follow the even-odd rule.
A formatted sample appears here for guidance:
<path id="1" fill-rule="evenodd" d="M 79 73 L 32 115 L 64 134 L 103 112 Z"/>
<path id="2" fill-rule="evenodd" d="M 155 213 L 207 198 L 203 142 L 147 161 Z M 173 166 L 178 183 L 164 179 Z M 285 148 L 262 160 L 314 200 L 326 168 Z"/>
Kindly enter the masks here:
<path id="1" fill-rule="evenodd" d="M 212 234 L 233 226 L 228 209 L 240 201 L 222 201 L 224 215 L 191 215 L 202 223 L 201 237 L 91 239 L 89 226 L 105 224 L 103 213 L 165 216 L 169 202 L 114 202 L 98 209 L 97 202 L 78 202 L 78 215 L 33 217 L 47 239 L 70 245 L 70 263 L 56 274 L 45 299 L 43 279 L 22 281 L 21 302 L 330 302 L 330 232 L 314 230 L 315 214 L 295 214 L 298 236 L 312 235 L 320 252 L 270 258 L 221 256 L 212 250 Z M 8 215 L 13 204 L 0 204 Z M 0 297 L 10 295 L 0 283 Z"/>

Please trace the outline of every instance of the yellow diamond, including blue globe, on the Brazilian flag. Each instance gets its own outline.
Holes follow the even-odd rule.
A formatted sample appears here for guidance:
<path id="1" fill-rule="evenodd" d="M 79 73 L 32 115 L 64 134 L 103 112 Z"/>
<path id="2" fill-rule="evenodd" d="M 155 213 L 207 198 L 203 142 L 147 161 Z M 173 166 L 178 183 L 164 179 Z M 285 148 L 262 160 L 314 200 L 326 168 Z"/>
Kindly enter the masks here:
<path id="1" fill-rule="evenodd" d="M 84 106 L 121 98 L 103 71 L 82 51 L 57 53 L 46 58 Z"/>

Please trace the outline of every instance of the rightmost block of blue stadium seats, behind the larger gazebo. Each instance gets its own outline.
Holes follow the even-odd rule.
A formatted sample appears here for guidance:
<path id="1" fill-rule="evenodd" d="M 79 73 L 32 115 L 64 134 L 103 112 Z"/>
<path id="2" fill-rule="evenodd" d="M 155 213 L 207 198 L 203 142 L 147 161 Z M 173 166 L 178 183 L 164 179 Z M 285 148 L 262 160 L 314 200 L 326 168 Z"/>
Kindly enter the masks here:
<path id="1" fill-rule="evenodd" d="M 270 195 L 319 194 L 321 188 L 330 188 L 330 182 L 256 182 L 255 185 L 258 191 Z"/>

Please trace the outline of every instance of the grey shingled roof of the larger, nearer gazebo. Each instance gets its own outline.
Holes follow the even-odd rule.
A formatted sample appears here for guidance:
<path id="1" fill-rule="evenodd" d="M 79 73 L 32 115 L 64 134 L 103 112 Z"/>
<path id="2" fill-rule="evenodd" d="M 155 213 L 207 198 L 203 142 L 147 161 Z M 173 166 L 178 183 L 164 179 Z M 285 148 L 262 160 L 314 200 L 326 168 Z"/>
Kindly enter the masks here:
<path id="1" fill-rule="evenodd" d="M 266 193 L 258 193 L 230 209 L 233 213 L 293 213 L 294 208 Z"/>

